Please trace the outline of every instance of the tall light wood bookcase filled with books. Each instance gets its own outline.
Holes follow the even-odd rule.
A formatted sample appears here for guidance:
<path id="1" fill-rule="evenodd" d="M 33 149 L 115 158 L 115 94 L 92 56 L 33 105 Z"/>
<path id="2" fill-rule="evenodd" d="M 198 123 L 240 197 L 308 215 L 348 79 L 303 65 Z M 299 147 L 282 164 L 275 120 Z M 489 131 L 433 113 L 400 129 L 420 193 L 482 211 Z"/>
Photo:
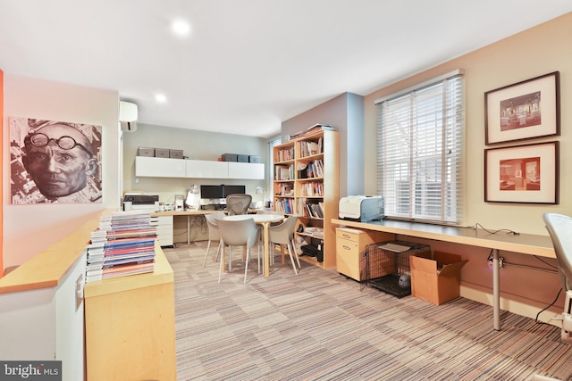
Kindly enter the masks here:
<path id="1" fill-rule="evenodd" d="M 273 203 L 275 211 L 299 216 L 308 244 L 320 245 L 324 261 L 300 257 L 324 269 L 336 266 L 335 228 L 340 202 L 339 136 L 319 130 L 273 148 Z M 310 232 L 311 231 L 311 232 Z"/>

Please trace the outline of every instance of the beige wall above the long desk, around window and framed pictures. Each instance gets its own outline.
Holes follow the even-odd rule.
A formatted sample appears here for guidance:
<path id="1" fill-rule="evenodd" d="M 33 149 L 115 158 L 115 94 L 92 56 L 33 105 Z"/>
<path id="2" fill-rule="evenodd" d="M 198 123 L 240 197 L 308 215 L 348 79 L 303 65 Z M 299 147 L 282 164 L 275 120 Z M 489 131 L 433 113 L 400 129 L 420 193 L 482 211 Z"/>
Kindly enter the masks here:
<path id="1" fill-rule="evenodd" d="M 465 189 L 467 209 L 462 225 L 476 222 L 485 228 L 509 228 L 521 233 L 547 235 L 542 215 L 546 211 L 572 214 L 572 176 L 566 164 L 572 159 L 569 124 L 572 109 L 572 13 L 506 38 L 491 46 L 445 62 L 366 95 L 366 173 L 376 173 L 376 114 L 374 100 L 402 88 L 432 79 L 457 68 L 466 70 L 467 134 Z M 561 136 L 537 141 L 560 142 L 560 200 L 558 205 L 484 203 L 484 93 L 552 71 L 560 72 Z M 531 141 L 532 142 L 532 141 Z M 375 176 L 366 176 L 366 193 L 376 193 Z"/>

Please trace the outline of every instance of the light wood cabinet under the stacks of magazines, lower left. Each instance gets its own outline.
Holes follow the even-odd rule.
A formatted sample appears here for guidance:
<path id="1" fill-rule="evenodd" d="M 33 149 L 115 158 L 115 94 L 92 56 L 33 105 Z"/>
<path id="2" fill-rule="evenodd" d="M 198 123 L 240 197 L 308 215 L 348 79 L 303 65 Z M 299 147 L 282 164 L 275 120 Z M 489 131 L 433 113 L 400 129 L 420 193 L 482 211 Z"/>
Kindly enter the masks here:
<path id="1" fill-rule="evenodd" d="M 156 248 L 154 272 L 86 284 L 88 381 L 177 379 L 173 281 Z"/>

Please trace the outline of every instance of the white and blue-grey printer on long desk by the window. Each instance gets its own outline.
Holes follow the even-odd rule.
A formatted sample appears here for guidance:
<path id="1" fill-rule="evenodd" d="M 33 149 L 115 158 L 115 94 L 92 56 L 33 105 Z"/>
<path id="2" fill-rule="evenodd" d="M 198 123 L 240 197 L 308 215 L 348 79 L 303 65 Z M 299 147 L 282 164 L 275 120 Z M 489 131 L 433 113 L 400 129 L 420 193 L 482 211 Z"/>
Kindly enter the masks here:
<path id="1" fill-rule="evenodd" d="M 349 195 L 341 197 L 339 205 L 340 219 L 368 222 L 383 219 L 383 196 Z"/>

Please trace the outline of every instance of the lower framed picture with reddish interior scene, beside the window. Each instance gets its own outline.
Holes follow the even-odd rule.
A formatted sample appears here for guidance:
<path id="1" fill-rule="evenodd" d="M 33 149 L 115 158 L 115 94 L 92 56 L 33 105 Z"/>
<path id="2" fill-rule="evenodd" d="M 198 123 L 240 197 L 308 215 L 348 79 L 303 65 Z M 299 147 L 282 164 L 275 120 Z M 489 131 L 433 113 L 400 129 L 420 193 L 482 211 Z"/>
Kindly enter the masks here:
<path id="1" fill-rule="evenodd" d="M 484 201 L 558 203 L 559 142 L 484 150 Z"/>

